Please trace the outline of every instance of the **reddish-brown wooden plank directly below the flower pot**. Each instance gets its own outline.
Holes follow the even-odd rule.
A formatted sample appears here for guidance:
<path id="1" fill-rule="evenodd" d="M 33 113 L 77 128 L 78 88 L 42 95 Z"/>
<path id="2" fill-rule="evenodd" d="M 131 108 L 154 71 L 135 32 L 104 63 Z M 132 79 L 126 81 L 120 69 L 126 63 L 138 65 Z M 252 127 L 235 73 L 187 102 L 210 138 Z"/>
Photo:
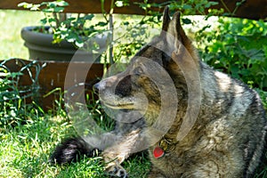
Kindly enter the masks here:
<path id="1" fill-rule="evenodd" d="M 18 72 L 30 62 L 32 61 L 12 59 L 6 61 L 4 66 L 12 72 Z M 103 75 L 103 64 L 101 63 L 90 64 L 77 61 L 72 62 L 71 69 L 69 69 L 68 61 L 36 61 L 36 64 L 29 68 L 33 77 L 36 76 L 35 66 L 42 66 L 44 63 L 46 65 L 44 69 L 41 69 L 38 76 L 39 93 L 34 98 L 28 98 L 27 100 L 28 102 L 37 101 L 44 110 L 53 109 L 54 101 L 59 100 L 59 92 L 44 97 L 45 94 L 50 93 L 55 88 L 61 88 L 61 92 L 64 90 L 69 92 L 69 95 L 72 95 L 72 101 L 81 101 L 85 94 L 92 94 L 92 86 Z M 91 68 L 88 69 L 90 66 Z M 69 78 L 66 79 L 67 71 Z M 24 70 L 23 73 L 24 75 L 19 80 L 19 87 L 32 85 L 33 83 L 29 77 L 28 70 Z M 85 85 L 79 85 L 81 83 L 85 83 Z M 81 93 L 81 91 L 85 93 Z"/>

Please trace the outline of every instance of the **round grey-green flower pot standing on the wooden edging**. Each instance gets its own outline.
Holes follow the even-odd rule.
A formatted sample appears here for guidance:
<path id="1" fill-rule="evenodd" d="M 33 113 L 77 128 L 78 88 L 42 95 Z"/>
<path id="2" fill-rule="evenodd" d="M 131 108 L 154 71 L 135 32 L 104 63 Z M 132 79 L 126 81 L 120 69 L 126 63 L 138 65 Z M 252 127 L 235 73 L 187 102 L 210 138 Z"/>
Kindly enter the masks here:
<path id="1" fill-rule="evenodd" d="M 53 35 L 36 32 L 38 27 L 25 27 L 21 29 L 21 37 L 28 48 L 29 58 L 37 61 L 71 61 L 75 54 L 75 61 L 100 61 L 100 53 L 89 53 L 78 50 L 73 45 L 62 40 L 60 44 L 53 44 Z M 48 29 L 49 27 L 46 27 Z M 96 36 L 92 39 L 105 49 L 107 36 Z M 96 60 L 95 60 L 96 59 Z"/>

